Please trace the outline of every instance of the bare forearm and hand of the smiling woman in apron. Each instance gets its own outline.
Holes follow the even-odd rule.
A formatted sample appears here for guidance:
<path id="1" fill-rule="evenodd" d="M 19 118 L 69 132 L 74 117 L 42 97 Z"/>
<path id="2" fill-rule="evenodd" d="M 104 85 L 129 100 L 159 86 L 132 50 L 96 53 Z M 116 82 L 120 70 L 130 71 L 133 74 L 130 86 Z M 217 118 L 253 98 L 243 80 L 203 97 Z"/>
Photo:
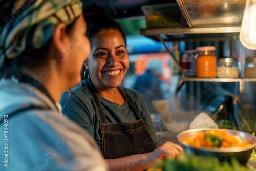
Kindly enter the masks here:
<path id="1" fill-rule="evenodd" d="M 172 142 L 165 142 L 151 153 L 126 156 L 119 159 L 108 159 L 106 162 L 109 164 L 110 171 L 139 171 L 154 166 L 157 160 L 163 159 L 165 156 L 175 158 L 182 152 L 183 149 L 181 146 Z"/>

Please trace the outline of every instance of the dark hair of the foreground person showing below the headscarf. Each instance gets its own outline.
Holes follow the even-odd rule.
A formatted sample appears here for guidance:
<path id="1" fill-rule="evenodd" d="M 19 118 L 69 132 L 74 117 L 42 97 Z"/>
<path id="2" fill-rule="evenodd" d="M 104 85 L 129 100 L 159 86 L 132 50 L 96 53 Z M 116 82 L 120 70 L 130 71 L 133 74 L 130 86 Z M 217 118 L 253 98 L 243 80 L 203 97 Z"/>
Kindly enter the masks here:
<path id="1" fill-rule="evenodd" d="M 7 24 L 6 18 L 11 18 L 11 12 L 15 1 L 16 0 L 0 2 L 0 34 L 2 32 L 1 29 Z M 74 22 L 72 22 L 71 24 L 67 25 L 67 33 L 71 32 L 75 21 L 76 20 L 74 20 Z M 0 66 L 0 79 L 3 76 L 5 76 L 6 78 L 10 78 L 12 75 L 19 78 L 21 68 L 26 67 L 28 69 L 34 69 L 36 67 L 46 65 L 46 63 L 49 61 L 49 57 L 46 54 L 48 53 L 51 39 L 49 39 L 41 48 L 32 48 L 32 42 L 30 40 L 30 37 L 32 37 L 34 29 L 35 26 L 31 29 L 30 33 L 27 36 L 28 40 L 26 45 L 26 51 L 24 51 L 18 57 L 14 57 L 12 59 L 6 58 L 3 67 Z"/>

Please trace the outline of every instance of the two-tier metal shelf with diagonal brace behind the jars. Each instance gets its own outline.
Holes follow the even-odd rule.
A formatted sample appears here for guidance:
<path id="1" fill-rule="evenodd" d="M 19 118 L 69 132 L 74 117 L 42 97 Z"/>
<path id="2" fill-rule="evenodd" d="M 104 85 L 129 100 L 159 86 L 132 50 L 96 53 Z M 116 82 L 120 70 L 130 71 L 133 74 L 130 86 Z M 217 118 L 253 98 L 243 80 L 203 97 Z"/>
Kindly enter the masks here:
<path id="1" fill-rule="evenodd" d="M 195 82 L 239 82 L 239 92 L 244 92 L 244 82 L 255 82 L 256 78 L 189 78 L 180 66 L 172 51 L 166 46 L 165 41 L 212 41 L 235 40 L 239 38 L 241 27 L 204 27 L 204 28 L 150 28 L 140 29 L 140 34 L 155 41 L 161 41 L 167 52 L 174 59 L 178 68 L 185 76 L 178 80 L 177 92 L 187 81 Z"/>

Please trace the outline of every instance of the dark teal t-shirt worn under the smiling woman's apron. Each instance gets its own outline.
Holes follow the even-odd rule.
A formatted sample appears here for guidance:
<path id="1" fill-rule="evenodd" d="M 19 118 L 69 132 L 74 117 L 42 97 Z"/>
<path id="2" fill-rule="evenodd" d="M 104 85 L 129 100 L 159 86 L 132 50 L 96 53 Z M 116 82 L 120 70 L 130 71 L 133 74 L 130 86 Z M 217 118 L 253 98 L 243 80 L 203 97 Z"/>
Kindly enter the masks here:
<path id="1" fill-rule="evenodd" d="M 119 88 L 136 106 L 138 114 L 144 120 L 147 130 L 153 138 L 155 143 L 154 149 L 156 149 L 156 133 L 143 97 L 136 90 L 127 89 L 123 86 L 119 86 Z M 98 97 L 108 123 L 136 121 L 135 114 L 127 101 L 123 105 L 119 105 L 106 100 L 99 94 Z M 86 129 L 93 136 L 102 152 L 102 139 L 99 125 L 100 118 L 98 113 L 95 113 L 96 106 L 86 82 L 83 80 L 79 86 L 73 88 L 70 95 L 69 91 L 63 93 L 60 104 L 63 108 L 62 112 L 71 120 Z"/>

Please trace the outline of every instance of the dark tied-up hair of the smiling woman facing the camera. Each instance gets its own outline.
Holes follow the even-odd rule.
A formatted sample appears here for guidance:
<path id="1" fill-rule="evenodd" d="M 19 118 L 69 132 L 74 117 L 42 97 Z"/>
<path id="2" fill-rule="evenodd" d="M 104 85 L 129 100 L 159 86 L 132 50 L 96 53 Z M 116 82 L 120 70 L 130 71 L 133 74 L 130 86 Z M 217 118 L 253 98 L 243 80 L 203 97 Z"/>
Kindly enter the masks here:
<path id="1" fill-rule="evenodd" d="M 119 23 L 117 23 L 108 15 L 105 7 L 99 6 L 95 3 L 89 5 L 83 9 L 83 16 L 84 19 L 86 19 L 86 35 L 89 38 L 90 42 L 92 42 L 92 39 L 96 33 L 103 30 L 113 29 L 118 31 L 122 35 L 126 46 L 126 36 L 122 27 Z"/>

